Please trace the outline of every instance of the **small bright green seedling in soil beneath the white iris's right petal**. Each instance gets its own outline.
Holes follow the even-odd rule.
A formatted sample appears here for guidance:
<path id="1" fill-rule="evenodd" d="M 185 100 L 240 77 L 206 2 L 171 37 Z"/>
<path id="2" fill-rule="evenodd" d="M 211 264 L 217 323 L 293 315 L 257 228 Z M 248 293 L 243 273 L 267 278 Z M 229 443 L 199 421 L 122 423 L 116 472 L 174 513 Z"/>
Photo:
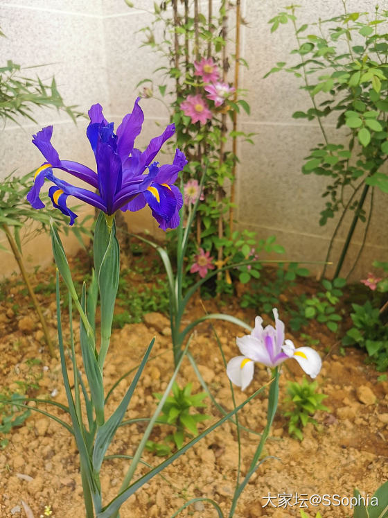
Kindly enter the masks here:
<path id="1" fill-rule="evenodd" d="M 328 411 L 329 409 L 321 404 L 322 400 L 327 397 L 324 394 L 316 392 L 318 383 L 308 383 L 307 379 L 303 377 L 301 383 L 297 381 L 289 381 L 287 386 L 288 397 L 285 398 L 285 403 L 292 408 L 285 412 L 285 417 L 289 417 L 288 433 L 294 435 L 299 440 L 303 440 L 303 433 L 301 429 L 308 422 L 317 426 L 317 421 L 313 419 L 312 415 L 317 410 Z"/>

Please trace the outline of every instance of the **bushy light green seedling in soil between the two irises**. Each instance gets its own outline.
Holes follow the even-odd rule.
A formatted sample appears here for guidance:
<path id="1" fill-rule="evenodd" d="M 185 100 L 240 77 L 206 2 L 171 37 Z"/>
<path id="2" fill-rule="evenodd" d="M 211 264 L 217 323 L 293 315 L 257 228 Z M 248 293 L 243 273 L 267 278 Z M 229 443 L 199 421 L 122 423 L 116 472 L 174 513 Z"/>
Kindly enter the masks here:
<path id="1" fill-rule="evenodd" d="M 197 423 L 209 419 L 210 416 L 201 413 L 190 413 L 193 408 L 206 408 L 206 404 L 202 403 L 207 396 L 206 392 L 199 392 L 191 395 L 192 383 L 187 383 L 184 388 L 179 388 L 177 383 L 173 384 L 173 395 L 166 399 L 166 403 L 162 408 L 159 423 L 171 424 L 176 427 L 176 431 L 166 437 L 164 443 L 160 444 L 154 441 L 147 441 L 146 447 L 159 456 L 170 454 L 171 448 L 167 444 L 168 441 L 175 442 L 177 449 L 181 449 L 184 443 L 185 435 L 198 435 Z M 161 399 L 162 395 L 155 393 L 154 396 Z"/>

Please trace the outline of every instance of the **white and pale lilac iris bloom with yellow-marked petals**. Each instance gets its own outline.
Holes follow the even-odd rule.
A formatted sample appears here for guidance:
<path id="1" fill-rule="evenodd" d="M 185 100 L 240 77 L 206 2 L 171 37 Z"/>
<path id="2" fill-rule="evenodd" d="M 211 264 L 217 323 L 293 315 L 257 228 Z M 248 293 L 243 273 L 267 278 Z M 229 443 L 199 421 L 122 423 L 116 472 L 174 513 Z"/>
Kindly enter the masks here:
<path id="1" fill-rule="evenodd" d="M 274 368 L 289 358 L 297 360 L 310 377 L 315 378 L 321 370 L 321 357 L 311 347 L 295 349 L 291 340 L 284 339 L 284 324 L 279 320 L 278 310 L 273 309 L 276 329 L 267 325 L 263 329 L 263 318 L 256 317 L 255 327 L 250 335 L 236 338 L 243 356 L 235 356 L 227 364 L 227 375 L 232 383 L 245 390 L 254 377 L 254 362 Z"/>

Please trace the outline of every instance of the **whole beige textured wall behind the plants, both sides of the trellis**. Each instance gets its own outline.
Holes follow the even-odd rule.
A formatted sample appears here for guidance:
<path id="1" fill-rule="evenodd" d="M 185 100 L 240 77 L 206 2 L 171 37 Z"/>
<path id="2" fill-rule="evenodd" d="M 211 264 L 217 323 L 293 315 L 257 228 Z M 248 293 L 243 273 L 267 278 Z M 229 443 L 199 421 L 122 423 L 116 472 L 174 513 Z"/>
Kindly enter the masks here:
<path id="1" fill-rule="evenodd" d="M 206 1 L 202 1 L 204 8 Z M 299 19 L 315 21 L 319 16 L 342 10 L 340 0 L 303 0 Z M 123 0 L 0 0 L 1 27 L 8 36 L 1 40 L 1 62 L 12 59 L 24 66 L 46 63 L 37 73 L 49 80 L 53 74 L 68 104 L 85 112 L 99 102 L 108 120 L 118 123 L 131 110 L 139 80 L 152 76 L 161 64 L 159 55 L 148 48 L 139 49 L 143 35 L 139 28 L 150 24 L 153 0 L 134 0 L 129 9 Z M 214 1 L 214 10 L 219 2 Z M 292 260 L 324 259 L 333 225 L 319 227 L 323 208 L 320 193 L 325 179 L 301 174 L 303 157 L 321 141 L 317 123 L 292 119 L 292 112 L 309 107 L 306 92 L 288 74 L 263 80 L 278 61 L 288 61 L 294 46 L 291 26 L 270 34 L 267 21 L 283 8 L 283 0 L 241 0 L 243 17 L 249 26 L 242 28 L 241 55 L 249 62 L 242 69 L 241 87 L 249 90 L 247 100 L 252 115 L 243 115 L 240 128 L 256 132 L 255 144 L 238 144 L 236 216 L 241 229 L 256 230 L 258 237 L 276 234 Z M 141 7 L 141 9 L 140 9 Z M 373 10 L 374 3 L 352 0 L 351 10 Z M 158 135 L 168 123 L 168 112 L 155 100 L 143 100 L 144 132 L 136 145 L 141 148 Z M 13 169 L 24 174 L 42 163 L 42 155 L 30 144 L 31 135 L 48 124 L 54 125 L 53 143 L 60 157 L 94 167 L 94 156 L 85 136 L 87 120 L 77 126 L 67 116 L 53 110 L 35 112 L 37 125 L 21 120 L 21 128 L 7 123 L 0 132 L 0 178 Z M 157 125 L 161 127 L 158 128 Z M 337 134 L 335 124 L 326 125 L 329 135 Z M 337 137 L 335 137 L 337 139 Z M 166 157 L 167 161 L 167 157 Z M 369 270 L 373 259 L 387 258 L 387 211 L 385 198 L 376 196 L 367 247 L 355 278 Z M 87 210 L 85 208 L 85 210 Z M 156 229 L 148 209 L 130 217 L 132 227 L 145 218 L 150 231 Z M 131 223 L 130 223 L 131 224 Z M 360 246 L 360 228 L 351 247 L 355 257 Z M 0 243 L 2 236 L 0 235 Z M 43 239 L 43 238 L 42 238 Z M 337 249 L 344 235 L 338 240 Z M 50 261 L 48 239 L 44 255 Z M 34 254 L 31 254 L 32 257 Z M 39 261 L 42 261 L 42 254 Z M 1 273 L 10 273 L 9 255 L 0 255 Z"/>

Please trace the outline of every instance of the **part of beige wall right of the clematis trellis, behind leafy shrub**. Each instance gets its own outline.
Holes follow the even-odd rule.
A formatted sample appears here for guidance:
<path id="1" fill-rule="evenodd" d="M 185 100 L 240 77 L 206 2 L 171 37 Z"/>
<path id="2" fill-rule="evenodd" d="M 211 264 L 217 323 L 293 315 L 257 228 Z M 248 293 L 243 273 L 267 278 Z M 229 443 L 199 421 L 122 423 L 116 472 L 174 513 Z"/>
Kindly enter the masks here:
<path id="1" fill-rule="evenodd" d="M 303 0 L 297 2 L 302 23 L 327 19 L 341 14 L 340 0 Z M 256 230 L 260 236 L 276 234 L 285 246 L 287 257 L 297 261 L 321 261 L 326 256 L 328 243 L 335 225 L 319 226 L 319 212 L 324 209 L 321 193 L 327 178 L 303 175 L 301 165 L 309 150 L 323 141 L 316 121 L 292 119 L 292 113 L 310 107 L 307 92 L 299 89 L 301 82 L 292 74 L 277 73 L 267 79 L 263 76 L 276 66 L 276 62 L 292 63 L 290 51 L 296 47 L 291 24 L 270 33 L 267 21 L 284 10 L 283 0 L 245 0 L 243 15 L 249 27 L 243 28 L 242 55 L 250 69 L 243 71 L 242 86 L 249 90 L 248 100 L 252 116 L 243 116 L 241 128 L 256 132 L 255 145 L 240 144 L 242 162 L 238 170 L 238 211 L 240 228 Z M 351 0 L 349 12 L 374 12 L 375 2 Z M 308 31 L 306 31 L 308 32 Z M 340 143 L 346 130 L 335 130 L 335 121 L 324 122 L 329 141 Z M 340 136 L 339 136 L 340 134 Z M 373 219 L 366 246 L 352 278 L 360 279 L 374 259 L 387 261 L 388 215 L 387 196 L 376 192 Z M 336 241 L 333 257 L 338 258 L 349 228 L 350 218 L 342 227 Z M 349 271 L 362 241 L 363 225 L 353 236 L 344 271 Z M 310 269 L 319 270 L 319 266 Z M 328 268 L 328 275 L 334 273 Z"/>

